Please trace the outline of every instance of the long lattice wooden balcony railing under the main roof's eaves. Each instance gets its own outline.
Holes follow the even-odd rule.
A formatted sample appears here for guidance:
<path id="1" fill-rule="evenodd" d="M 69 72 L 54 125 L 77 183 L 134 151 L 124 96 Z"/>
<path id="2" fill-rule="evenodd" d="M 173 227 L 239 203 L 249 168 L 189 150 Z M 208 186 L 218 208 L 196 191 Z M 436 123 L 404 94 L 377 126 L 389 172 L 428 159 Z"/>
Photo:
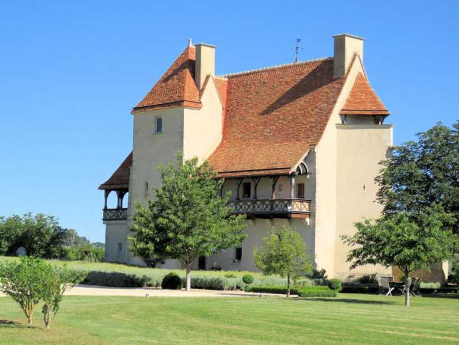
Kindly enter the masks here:
<path id="1" fill-rule="evenodd" d="M 230 200 L 235 214 L 249 218 L 309 218 L 311 200 L 306 199 L 244 199 Z"/>

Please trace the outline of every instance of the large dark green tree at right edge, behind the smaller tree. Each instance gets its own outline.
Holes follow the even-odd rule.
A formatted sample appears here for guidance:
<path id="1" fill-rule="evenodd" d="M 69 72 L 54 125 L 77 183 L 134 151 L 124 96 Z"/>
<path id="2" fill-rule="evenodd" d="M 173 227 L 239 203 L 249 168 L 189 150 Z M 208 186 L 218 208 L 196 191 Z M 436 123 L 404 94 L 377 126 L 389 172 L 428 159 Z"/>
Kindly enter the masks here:
<path id="1" fill-rule="evenodd" d="M 419 224 L 425 208 L 441 203 L 456 219 L 452 230 L 459 234 L 459 121 L 418 133 L 417 141 L 394 147 L 393 157 L 381 164 L 376 182 L 383 215 L 408 212 Z"/>

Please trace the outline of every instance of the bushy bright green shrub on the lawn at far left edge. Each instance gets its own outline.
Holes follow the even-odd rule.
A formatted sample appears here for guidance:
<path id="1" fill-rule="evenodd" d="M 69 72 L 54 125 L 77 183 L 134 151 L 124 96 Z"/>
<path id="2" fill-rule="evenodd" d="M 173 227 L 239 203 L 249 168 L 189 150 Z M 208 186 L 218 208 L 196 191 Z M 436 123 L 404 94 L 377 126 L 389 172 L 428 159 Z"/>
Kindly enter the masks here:
<path id="1" fill-rule="evenodd" d="M 43 260 L 23 256 L 19 262 L 0 262 L 0 290 L 20 305 L 32 324 L 32 313 L 41 299 L 48 266 Z"/>

